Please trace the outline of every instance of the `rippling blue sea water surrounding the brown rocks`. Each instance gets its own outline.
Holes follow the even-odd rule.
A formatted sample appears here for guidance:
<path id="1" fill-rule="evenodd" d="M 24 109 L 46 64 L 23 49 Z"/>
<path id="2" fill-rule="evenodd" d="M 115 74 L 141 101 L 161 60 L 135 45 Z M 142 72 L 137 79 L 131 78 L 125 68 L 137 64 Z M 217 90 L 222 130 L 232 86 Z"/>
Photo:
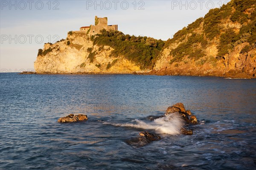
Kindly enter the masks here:
<path id="1" fill-rule="evenodd" d="M 256 167 L 256 79 L 13 73 L 0 80 L 1 169 Z M 197 116 L 194 134 L 151 129 L 147 116 L 177 102 Z M 88 120 L 57 122 L 70 113 Z M 163 139 L 126 143 L 143 130 Z"/>

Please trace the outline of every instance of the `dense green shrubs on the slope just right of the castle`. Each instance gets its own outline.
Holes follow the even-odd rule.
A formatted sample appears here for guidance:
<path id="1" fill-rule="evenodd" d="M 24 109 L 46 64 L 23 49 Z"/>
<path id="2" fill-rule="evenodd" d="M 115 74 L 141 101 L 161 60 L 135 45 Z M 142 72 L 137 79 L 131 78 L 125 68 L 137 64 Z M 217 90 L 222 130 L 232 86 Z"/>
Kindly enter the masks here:
<path id="1" fill-rule="evenodd" d="M 123 55 L 141 68 L 152 69 L 157 60 L 157 56 L 164 46 L 164 41 L 151 37 L 136 37 L 123 34 L 121 31 L 101 30 L 102 34 L 97 34 L 93 43 L 97 45 L 109 45 L 114 51 L 113 57 Z"/>

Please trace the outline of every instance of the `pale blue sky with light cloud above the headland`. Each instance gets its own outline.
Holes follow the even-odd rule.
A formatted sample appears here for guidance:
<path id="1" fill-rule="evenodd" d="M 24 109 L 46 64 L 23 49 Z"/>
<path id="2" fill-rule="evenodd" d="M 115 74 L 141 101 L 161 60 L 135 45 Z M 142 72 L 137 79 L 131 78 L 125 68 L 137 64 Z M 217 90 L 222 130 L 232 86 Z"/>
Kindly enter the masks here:
<path id="1" fill-rule="evenodd" d="M 230 0 L 0 0 L 0 72 L 32 71 L 44 43 L 108 17 L 124 34 L 168 40 Z"/>

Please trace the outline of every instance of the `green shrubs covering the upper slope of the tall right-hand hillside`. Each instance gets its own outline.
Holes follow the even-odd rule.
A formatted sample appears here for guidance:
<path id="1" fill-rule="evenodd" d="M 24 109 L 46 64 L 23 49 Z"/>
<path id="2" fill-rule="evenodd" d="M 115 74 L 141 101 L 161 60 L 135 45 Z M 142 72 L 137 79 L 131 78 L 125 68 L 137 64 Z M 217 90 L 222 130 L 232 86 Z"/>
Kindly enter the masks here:
<path id="1" fill-rule="evenodd" d="M 165 47 L 172 43 L 182 42 L 172 49 L 170 63 L 180 62 L 184 56 L 195 61 L 205 56 L 205 49 L 217 42 L 218 54 L 221 59 L 236 45 L 249 42 L 242 52 L 256 47 L 256 0 L 233 0 L 221 8 L 214 8 L 182 30 L 177 31 L 172 39 L 166 41 Z M 225 23 L 227 26 L 224 26 Z M 238 26 L 232 26 L 238 25 Z M 237 28 L 240 25 L 239 31 Z M 201 28 L 200 28 L 201 27 Z"/>

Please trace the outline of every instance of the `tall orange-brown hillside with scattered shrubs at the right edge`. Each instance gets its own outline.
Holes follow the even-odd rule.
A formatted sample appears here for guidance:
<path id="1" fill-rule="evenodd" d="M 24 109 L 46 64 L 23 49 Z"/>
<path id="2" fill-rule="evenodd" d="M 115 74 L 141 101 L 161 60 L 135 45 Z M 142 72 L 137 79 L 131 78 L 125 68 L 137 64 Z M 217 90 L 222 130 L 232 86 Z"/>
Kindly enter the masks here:
<path id="1" fill-rule="evenodd" d="M 255 78 L 255 4 L 233 0 L 178 31 L 151 74 Z"/>

